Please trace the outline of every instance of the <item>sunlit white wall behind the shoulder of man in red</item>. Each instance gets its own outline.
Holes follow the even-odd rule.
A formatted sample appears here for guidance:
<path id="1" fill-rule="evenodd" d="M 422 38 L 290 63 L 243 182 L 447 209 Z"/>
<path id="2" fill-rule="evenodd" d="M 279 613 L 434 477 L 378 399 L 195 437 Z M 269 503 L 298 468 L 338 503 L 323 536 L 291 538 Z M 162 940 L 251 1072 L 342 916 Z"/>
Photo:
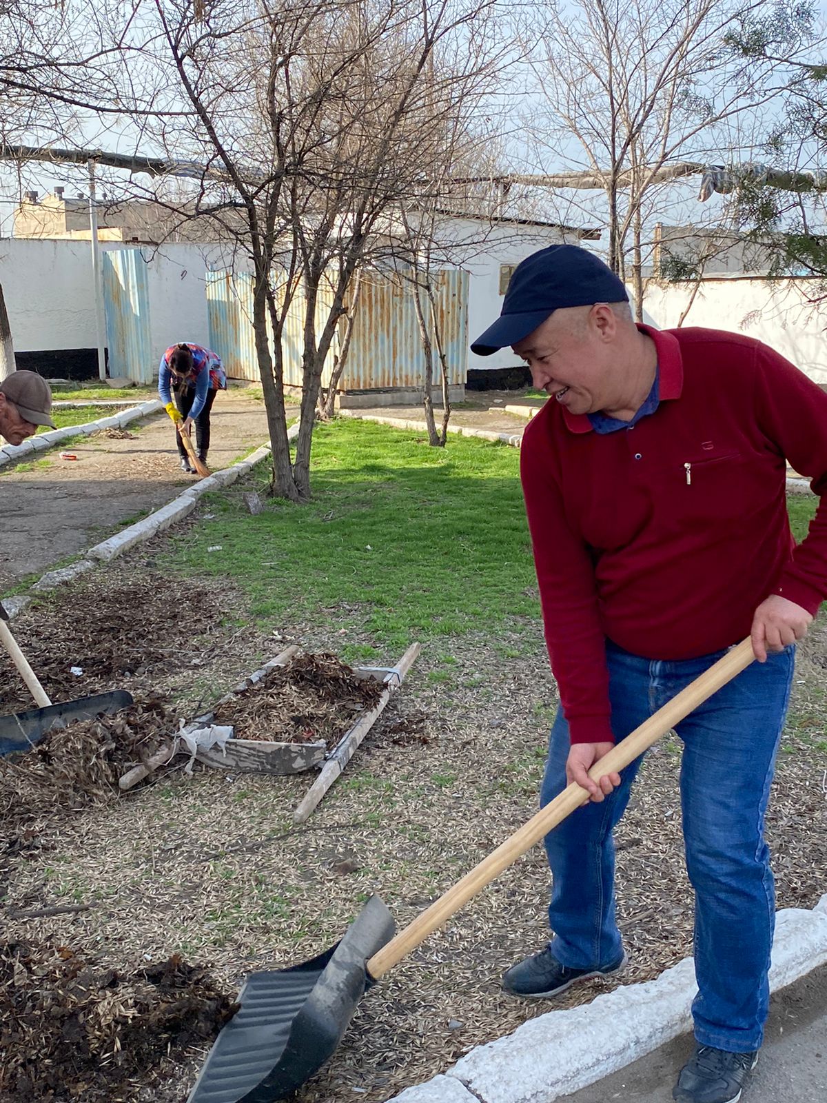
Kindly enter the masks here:
<path id="1" fill-rule="evenodd" d="M 653 283 L 644 296 L 644 321 L 658 329 L 677 325 L 692 283 Z M 722 276 L 705 279 L 684 325 L 704 325 L 756 338 L 827 385 L 827 312 L 813 307 L 818 289 L 807 280 Z"/>

